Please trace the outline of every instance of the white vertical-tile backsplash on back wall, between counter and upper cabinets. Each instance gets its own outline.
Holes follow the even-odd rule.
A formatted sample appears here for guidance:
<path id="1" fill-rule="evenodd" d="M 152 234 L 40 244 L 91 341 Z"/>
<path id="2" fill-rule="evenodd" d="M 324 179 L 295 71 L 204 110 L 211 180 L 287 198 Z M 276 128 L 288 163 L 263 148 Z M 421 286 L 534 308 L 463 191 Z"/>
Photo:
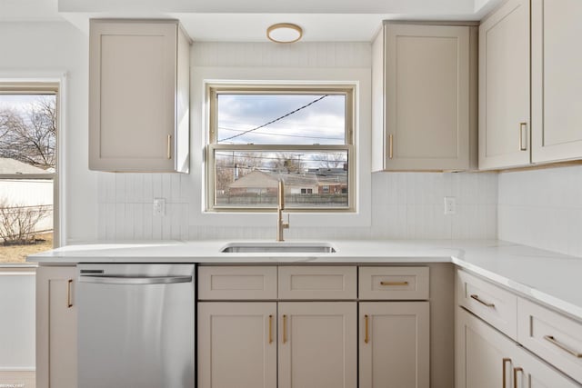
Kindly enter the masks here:
<path id="1" fill-rule="evenodd" d="M 200 204 L 189 200 L 198 189 L 191 181 L 189 174 L 99 174 L 99 238 L 274 238 L 275 227 L 195 226 L 189 214 Z M 445 196 L 457 198 L 457 214 L 444 214 Z M 154 215 L 154 198 L 166 198 L 165 216 Z M 286 236 L 364 240 L 497 236 L 497 174 L 376 173 L 372 174 L 372 204 L 369 227 L 291 227 Z"/>

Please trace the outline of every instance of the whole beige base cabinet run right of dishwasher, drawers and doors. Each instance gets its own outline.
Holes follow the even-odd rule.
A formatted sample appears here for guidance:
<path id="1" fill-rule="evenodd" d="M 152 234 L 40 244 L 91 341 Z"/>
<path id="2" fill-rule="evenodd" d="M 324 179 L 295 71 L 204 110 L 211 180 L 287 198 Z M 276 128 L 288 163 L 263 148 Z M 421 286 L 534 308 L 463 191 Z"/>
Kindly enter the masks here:
<path id="1" fill-rule="evenodd" d="M 428 296 L 427 266 L 203 265 L 197 387 L 428 388 Z"/>

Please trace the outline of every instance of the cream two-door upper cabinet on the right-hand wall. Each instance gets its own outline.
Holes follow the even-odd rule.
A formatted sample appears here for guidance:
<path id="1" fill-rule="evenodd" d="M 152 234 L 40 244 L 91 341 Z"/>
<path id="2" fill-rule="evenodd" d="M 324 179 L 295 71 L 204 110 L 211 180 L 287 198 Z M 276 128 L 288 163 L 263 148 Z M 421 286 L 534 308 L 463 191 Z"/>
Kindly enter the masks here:
<path id="1" fill-rule="evenodd" d="M 580 18 L 577 0 L 508 0 L 481 24 L 480 169 L 582 158 Z"/>

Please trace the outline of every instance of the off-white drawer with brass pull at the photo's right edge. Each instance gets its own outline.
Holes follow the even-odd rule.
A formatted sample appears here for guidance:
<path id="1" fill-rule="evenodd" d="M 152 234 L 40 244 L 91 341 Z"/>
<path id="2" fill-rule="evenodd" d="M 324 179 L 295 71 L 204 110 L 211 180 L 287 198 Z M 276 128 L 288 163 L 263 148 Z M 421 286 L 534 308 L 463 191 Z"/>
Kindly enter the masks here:
<path id="1" fill-rule="evenodd" d="M 518 298 L 517 341 L 582 383 L 582 323 Z"/>

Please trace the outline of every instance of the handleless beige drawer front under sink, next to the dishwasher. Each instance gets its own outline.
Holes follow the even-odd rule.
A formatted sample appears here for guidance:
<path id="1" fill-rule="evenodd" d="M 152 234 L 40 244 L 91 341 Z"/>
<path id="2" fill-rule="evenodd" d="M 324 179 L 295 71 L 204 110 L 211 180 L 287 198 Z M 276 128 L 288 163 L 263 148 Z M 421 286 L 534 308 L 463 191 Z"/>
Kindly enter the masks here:
<path id="1" fill-rule="evenodd" d="M 198 267 L 198 299 L 276 299 L 276 267 Z"/>

